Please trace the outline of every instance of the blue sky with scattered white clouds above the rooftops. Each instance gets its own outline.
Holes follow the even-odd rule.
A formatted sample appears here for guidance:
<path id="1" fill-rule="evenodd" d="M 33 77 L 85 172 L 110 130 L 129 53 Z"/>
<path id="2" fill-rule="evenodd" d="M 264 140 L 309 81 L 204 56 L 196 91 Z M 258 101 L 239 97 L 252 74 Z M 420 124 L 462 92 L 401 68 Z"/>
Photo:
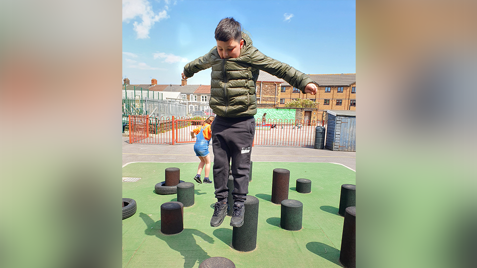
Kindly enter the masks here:
<path id="1" fill-rule="evenodd" d="M 187 62 L 215 45 L 234 17 L 263 54 L 306 74 L 356 73 L 354 0 L 123 0 L 123 77 L 180 84 Z M 188 84 L 210 84 L 211 69 Z"/>

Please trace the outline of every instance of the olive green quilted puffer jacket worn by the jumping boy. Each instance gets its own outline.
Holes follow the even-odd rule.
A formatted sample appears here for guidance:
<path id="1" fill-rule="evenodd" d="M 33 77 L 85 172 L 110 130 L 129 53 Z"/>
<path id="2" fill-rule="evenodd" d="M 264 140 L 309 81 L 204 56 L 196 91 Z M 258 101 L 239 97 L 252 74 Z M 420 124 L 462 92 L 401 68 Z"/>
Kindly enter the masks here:
<path id="1" fill-rule="evenodd" d="M 192 77 L 195 73 L 212 67 L 209 106 L 215 114 L 223 117 L 244 117 L 257 113 L 255 87 L 259 69 L 285 80 L 303 93 L 305 86 L 313 82 L 290 65 L 263 55 L 243 32 L 242 39 L 244 44 L 238 58 L 220 59 L 215 46 L 209 53 L 184 67 L 186 77 Z"/>

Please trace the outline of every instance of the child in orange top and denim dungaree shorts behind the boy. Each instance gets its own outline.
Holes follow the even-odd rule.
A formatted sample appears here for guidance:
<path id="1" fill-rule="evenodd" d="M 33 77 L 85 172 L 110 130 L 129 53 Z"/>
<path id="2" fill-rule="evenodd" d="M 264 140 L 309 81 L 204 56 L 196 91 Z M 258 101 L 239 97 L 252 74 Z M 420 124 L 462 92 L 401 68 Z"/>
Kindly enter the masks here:
<path id="1" fill-rule="evenodd" d="M 202 168 L 205 166 L 204 171 L 204 183 L 211 184 L 212 181 L 209 180 L 210 172 L 210 154 L 209 154 L 209 143 L 210 138 L 212 137 L 212 131 L 210 129 L 210 124 L 214 121 L 214 116 L 209 116 L 201 126 L 195 128 L 191 131 L 191 137 L 195 140 L 194 151 L 195 155 L 200 159 L 199 167 L 197 168 L 197 175 L 195 175 L 194 180 L 201 184 L 200 173 L 202 173 Z"/>

